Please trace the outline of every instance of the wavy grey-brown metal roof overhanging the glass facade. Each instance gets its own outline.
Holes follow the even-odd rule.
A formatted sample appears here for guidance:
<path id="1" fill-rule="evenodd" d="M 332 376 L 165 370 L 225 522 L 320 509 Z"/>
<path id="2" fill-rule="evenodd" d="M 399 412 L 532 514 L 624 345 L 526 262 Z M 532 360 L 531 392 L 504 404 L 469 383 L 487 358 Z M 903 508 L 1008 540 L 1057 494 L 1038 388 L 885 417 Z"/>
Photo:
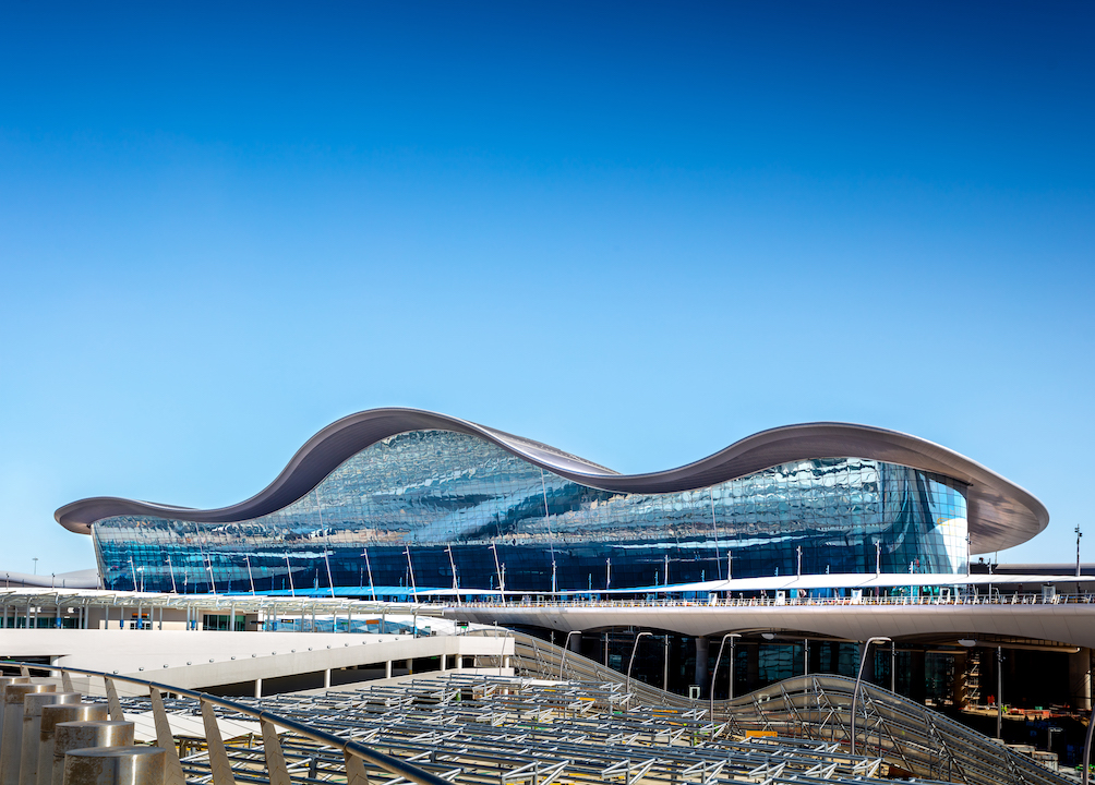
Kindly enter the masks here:
<path id="1" fill-rule="evenodd" d="M 94 497 L 54 513 L 69 531 L 91 533 L 91 524 L 113 516 L 155 516 L 197 523 L 250 520 L 300 499 L 344 461 L 361 450 L 411 430 L 448 430 L 489 441 L 529 463 L 583 485 L 615 493 L 664 494 L 694 490 L 793 461 L 863 458 L 896 463 L 965 483 L 971 553 L 990 553 L 1026 542 L 1049 524 L 1034 495 L 976 461 L 925 439 L 849 423 L 808 423 L 763 430 L 725 450 L 665 472 L 616 474 L 604 466 L 469 420 L 411 408 L 374 408 L 328 425 L 297 451 L 266 488 L 245 501 L 212 510 Z"/>

